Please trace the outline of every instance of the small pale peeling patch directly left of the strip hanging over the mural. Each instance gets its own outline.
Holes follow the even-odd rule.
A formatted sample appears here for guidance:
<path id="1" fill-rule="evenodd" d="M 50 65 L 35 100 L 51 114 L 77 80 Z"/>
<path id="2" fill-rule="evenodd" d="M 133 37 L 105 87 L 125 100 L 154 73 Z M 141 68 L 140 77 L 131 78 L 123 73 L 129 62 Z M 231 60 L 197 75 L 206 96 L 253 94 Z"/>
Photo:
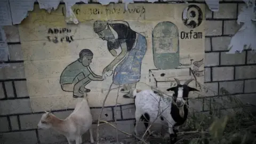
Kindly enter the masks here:
<path id="1" fill-rule="evenodd" d="M 45 9 L 47 12 L 51 13 L 51 10 L 57 10 L 60 4 L 60 0 L 37 0 L 40 9 Z"/>

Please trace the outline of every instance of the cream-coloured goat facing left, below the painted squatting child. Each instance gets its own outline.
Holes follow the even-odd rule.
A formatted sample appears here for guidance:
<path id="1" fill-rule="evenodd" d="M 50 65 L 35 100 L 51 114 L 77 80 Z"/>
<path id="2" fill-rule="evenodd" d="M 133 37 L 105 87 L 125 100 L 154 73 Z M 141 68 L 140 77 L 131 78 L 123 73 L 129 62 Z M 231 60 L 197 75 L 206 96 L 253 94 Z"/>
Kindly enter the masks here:
<path id="1" fill-rule="evenodd" d="M 85 95 L 81 102 L 77 102 L 74 111 L 66 119 L 59 119 L 51 113 L 51 110 L 49 112 L 45 111 L 45 114 L 42 115 L 37 124 L 37 128 L 52 128 L 65 135 L 69 144 L 74 140 L 76 144 L 82 143 L 82 135 L 89 130 L 91 143 L 94 142 L 92 136 L 92 115 Z"/>

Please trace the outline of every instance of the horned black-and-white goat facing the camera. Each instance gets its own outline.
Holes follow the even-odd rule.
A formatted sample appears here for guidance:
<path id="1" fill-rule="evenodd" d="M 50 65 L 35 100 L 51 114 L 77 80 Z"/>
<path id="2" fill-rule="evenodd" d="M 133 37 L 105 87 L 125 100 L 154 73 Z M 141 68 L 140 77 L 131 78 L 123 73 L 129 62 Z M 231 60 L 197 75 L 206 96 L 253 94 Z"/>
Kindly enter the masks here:
<path id="1" fill-rule="evenodd" d="M 138 134 L 137 125 L 140 119 L 144 121 L 143 123 L 147 129 L 148 123 L 153 123 L 158 116 L 161 116 L 162 121 L 165 120 L 168 123 L 170 142 L 175 143 L 177 141 L 179 126 L 185 123 L 188 116 L 188 93 L 198 90 L 188 86 L 193 79 L 188 79 L 183 85 L 180 84 L 179 79 L 174 79 L 177 82 L 177 86 L 167 89 L 167 91 L 174 91 L 170 102 L 166 101 L 166 96 L 161 97 L 153 90 L 133 90 L 135 103 L 135 135 Z M 185 105 L 185 103 L 187 103 L 187 105 Z M 151 133 L 150 131 L 148 132 Z"/>

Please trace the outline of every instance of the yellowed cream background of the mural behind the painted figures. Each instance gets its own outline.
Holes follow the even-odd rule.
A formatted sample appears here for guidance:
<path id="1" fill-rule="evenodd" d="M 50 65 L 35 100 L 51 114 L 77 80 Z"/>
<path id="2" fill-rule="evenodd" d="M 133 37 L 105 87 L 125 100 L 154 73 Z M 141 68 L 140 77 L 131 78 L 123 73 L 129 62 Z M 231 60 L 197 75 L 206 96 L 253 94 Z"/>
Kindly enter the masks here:
<path id="1" fill-rule="evenodd" d="M 157 84 L 161 90 L 165 91 L 174 81 L 173 77 L 177 77 L 181 81 L 196 77 L 197 82 L 203 84 L 204 65 L 197 69 L 201 71 L 200 76 L 191 74 L 191 70 L 195 66 L 192 64 L 193 62 L 202 60 L 203 63 L 204 61 L 205 7 L 204 4 L 195 4 L 203 12 L 203 21 L 201 25 L 193 28 L 192 32 L 192 34 L 194 32 L 202 33 L 202 38 L 182 39 L 180 37 L 181 31 L 184 31 L 183 34 L 185 34 L 185 32 L 189 33 L 192 30 L 183 24 L 181 18 L 182 11 L 188 5 L 191 4 L 129 4 L 129 11 L 126 12 L 124 11 L 124 4 L 74 5 L 73 10 L 79 21 L 78 25 L 66 24 L 62 11 L 64 9 L 65 12 L 64 5 L 60 5 L 58 10 L 52 11 L 51 14 L 35 5 L 34 11 L 30 12 L 28 18 L 19 25 L 27 87 L 33 111 L 75 107 L 79 99 L 74 99 L 72 92 L 62 91 L 60 75 L 65 67 L 79 58 L 79 52 L 82 49 L 89 49 L 93 52 L 90 67 L 95 74 L 100 76 L 102 70 L 114 59 L 108 52 L 107 41 L 102 41 L 93 31 L 93 22 L 96 20 L 124 20 L 129 23 L 132 30 L 146 37 L 147 51 L 142 60 L 141 78 L 140 82 L 137 83 L 138 89 L 149 89 L 148 85 L 156 86 Z M 178 69 L 158 70 L 154 65 L 152 32 L 154 27 L 163 21 L 170 21 L 177 26 L 179 30 L 179 59 L 180 63 L 188 63 L 187 66 L 181 65 Z M 66 33 L 61 34 L 49 34 L 49 28 L 65 28 L 71 31 L 69 33 L 66 31 Z M 51 41 L 49 41 L 48 36 L 50 36 Z M 66 42 L 66 36 L 72 36 L 73 41 L 69 39 L 70 43 Z M 58 43 L 52 41 L 54 37 L 57 37 Z M 63 42 L 60 42 L 61 38 L 63 38 Z M 191 61 L 191 59 L 193 60 Z M 172 65 L 171 62 L 170 65 Z M 103 81 L 92 81 L 87 85 L 91 89 L 87 93 L 91 107 L 102 106 L 112 78 L 110 76 Z M 194 81 L 190 85 L 195 86 L 195 84 Z M 114 85 L 114 87 L 117 86 Z M 165 92 L 167 93 L 167 91 Z M 190 95 L 191 97 L 198 96 L 192 92 Z M 116 97 L 117 90 L 111 91 L 106 106 L 114 106 Z M 125 99 L 123 94 L 119 92 L 117 102 L 118 105 L 123 105 L 132 103 L 133 99 Z"/>

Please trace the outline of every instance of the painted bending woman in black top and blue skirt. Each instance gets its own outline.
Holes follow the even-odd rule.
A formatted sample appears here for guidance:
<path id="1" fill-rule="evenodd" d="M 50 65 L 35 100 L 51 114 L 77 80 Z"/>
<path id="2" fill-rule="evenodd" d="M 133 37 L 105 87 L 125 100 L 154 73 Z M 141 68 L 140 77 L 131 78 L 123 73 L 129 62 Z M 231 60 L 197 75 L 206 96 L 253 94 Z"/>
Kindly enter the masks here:
<path id="1" fill-rule="evenodd" d="M 114 70 L 113 83 L 123 85 L 121 92 L 129 97 L 130 90 L 140 81 L 141 62 L 147 51 L 145 36 L 133 31 L 126 21 L 95 21 L 93 30 L 100 38 L 108 41 L 108 51 L 115 57 L 103 69 L 102 74 L 113 70 L 118 63 Z M 118 55 L 117 49 L 121 49 Z"/>

